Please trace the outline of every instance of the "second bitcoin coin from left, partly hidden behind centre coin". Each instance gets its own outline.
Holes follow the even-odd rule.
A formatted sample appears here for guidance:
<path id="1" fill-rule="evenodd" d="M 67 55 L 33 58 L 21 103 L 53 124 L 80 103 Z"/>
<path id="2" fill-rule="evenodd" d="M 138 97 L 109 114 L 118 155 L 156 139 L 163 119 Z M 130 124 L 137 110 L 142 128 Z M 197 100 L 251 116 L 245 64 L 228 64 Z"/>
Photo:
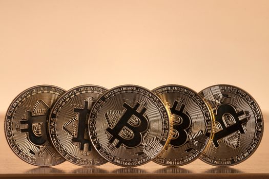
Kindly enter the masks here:
<path id="1" fill-rule="evenodd" d="M 92 167 L 107 163 L 92 147 L 88 119 L 93 103 L 106 88 L 96 85 L 77 86 L 55 103 L 49 119 L 49 134 L 56 150 L 69 162 Z"/>

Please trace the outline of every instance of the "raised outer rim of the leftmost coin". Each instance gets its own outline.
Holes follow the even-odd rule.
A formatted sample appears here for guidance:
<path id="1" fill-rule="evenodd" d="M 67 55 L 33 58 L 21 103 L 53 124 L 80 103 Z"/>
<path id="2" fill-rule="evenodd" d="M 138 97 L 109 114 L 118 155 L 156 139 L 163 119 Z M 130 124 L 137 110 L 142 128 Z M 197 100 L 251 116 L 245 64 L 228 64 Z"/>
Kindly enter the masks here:
<path id="1" fill-rule="evenodd" d="M 44 165 L 33 164 L 33 163 L 30 163 L 30 162 L 24 160 L 23 158 L 20 158 L 20 156 L 17 155 L 17 153 L 13 150 L 13 148 L 11 147 L 11 145 L 10 145 L 10 143 L 9 143 L 9 141 L 8 141 L 8 138 L 7 138 L 7 131 L 6 131 L 6 122 L 7 122 L 7 116 L 8 116 L 8 112 L 9 112 L 10 107 L 12 106 L 12 104 L 15 102 L 15 100 L 16 100 L 20 95 L 22 95 L 23 93 L 29 91 L 30 89 L 37 88 L 37 87 L 46 87 L 46 86 L 47 86 L 47 87 L 49 86 L 49 87 L 58 88 L 58 89 L 64 91 L 64 93 L 66 92 L 66 90 L 63 89 L 63 88 L 61 88 L 61 87 L 58 87 L 58 86 L 55 86 L 55 85 L 49 85 L 49 84 L 40 84 L 40 85 L 35 85 L 35 86 L 32 86 L 32 87 L 28 87 L 28 88 L 25 89 L 24 91 L 20 92 L 20 93 L 19 93 L 19 94 L 12 100 L 12 102 L 11 102 L 10 105 L 8 106 L 7 113 L 6 113 L 6 115 L 5 115 L 5 121 L 4 121 L 5 137 L 6 137 L 6 141 L 7 141 L 8 145 L 9 145 L 9 147 L 11 148 L 11 150 L 15 153 L 16 156 L 18 156 L 18 158 L 19 158 L 20 160 L 23 160 L 24 162 L 26 162 L 26 163 L 28 163 L 28 164 L 31 164 L 31 165 L 33 165 L 33 166 L 38 166 L 38 167 L 52 167 L 52 166 L 55 166 L 55 165 L 59 165 L 59 164 L 61 164 L 61 163 L 64 163 L 66 160 L 64 160 L 63 162 L 60 162 L 60 163 L 58 163 L 58 164 L 44 166 Z M 64 93 L 63 93 L 63 94 L 64 94 Z M 60 94 L 59 98 L 60 98 L 61 95 L 63 95 L 63 94 Z M 51 110 L 51 109 L 52 109 L 52 108 L 50 108 L 50 110 Z M 47 120 L 48 120 L 48 119 L 47 119 Z M 46 120 L 46 123 L 47 123 L 47 120 Z M 50 142 L 50 140 L 49 140 L 49 138 L 48 138 L 48 128 L 47 128 L 47 124 L 46 124 L 46 132 L 47 132 L 47 139 L 48 139 L 48 142 L 49 142 L 50 145 L 51 145 L 51 142 Z M 52 145 L 51 145 L 51 146 L 52 146 Z M 56 151 L 56 152 L 58 153 L 58 151 Z"/>

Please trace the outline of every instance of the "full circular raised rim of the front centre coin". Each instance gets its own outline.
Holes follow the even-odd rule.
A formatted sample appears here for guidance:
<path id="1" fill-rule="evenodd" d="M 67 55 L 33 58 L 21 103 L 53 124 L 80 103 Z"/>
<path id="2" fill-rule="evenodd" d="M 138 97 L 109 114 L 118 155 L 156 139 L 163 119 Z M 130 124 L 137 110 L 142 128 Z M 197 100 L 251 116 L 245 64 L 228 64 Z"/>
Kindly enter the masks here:
<path id="1" fill-rule="evenodd" d="M 170 135 L 170 116 L 169 116 L 169 113 L 168 113 L 168 111 L 167 111 L 167 108 L 165 107 L 165 105 L 164 105 L 164 103 L 162 102 L 162 100 L 161 100 L 157 95 L 155 95 L 150 89 L 148 89 L 148 88 L 146 88 L 146 87 L 143 87 L 143 86 L 135 85 L 135 84 L 124 84 L 124 85 L 118 85 L 118 86 L 115 86 L 115 87 L 113 87 L 113 88 L 110 88 L 106 93 L 104 93 L 102 96 L 100 96 L 100 98 L 98 98 L 98 99 L 96 100 L 96 102 L 94 103 L 92 109 L 94 108 L 94 106 L 97 104 L 97 102 L 98 102 L 104 95 L 106 95 L 107 93 L 109 93 L 109 92 L 112 91 L 113 89 L 116 89 L 116 88 L 119 88 L 119 87 L 127 87 L 127 86 L 129 86 L 129 87 L 138 87 L 138 88 L 146 89 L 148 92 L 152 93 L 155 97 L 157 97 L 157 99 L 159 99 L 159 102 L 161 102 L 161 104 L 164 106 L 165 112 L 167 113 L 167 116 L 168 116 L 168 122 L 169 122 L 169 124 L 168 124 L 169 129 L 168 129 L 168 131 L 169 131 L 169 133 L 168 133 L 168 137 L 167 137 L 167 139 L 166 139 L 166 141 L 165 141 L 165 144 L 162 146 L 162 149 L 163 149 L 164 146 L 167 144 L 167 142 L 168 142 L 168 138 L 169 138 L 169 135 Z M 111 96 L 111 95 L 110 95 L 110 96 Z M 90 135 L 90 118 L 91 118 L 91 115 L 92 115 L 92 111 L 91 111 L 91 114 L 89 115 L 89 120 L 88 120 L 88 130 L 89 130 L 89 135 Z M 92 141 L 92 137 L 91 137 L 91 135 L 90 135 L 90 140 Z M 93 143 L 93 142 L 92 142 L 92 143 Z M 137 166 L 140 166 L 140 165 L 147 164 L 147 163 L 149 163 L 150 161 L 152 161 L 152 160 L 154 159 L 154 158 L 153 158 L 153 159 L 151 159 L 151 160 L 148 160 L 147 162 L 140 163 L 140 164 L 137 164 L 137 165 L 131 165 L 131 166 L 120 165 L 120 164 L 114 163 L 114 162 L 108 160 L 107 158 L 105 158 L 105 157 L 104 157 L 104 156 L 97 150 L 97 148 L 95 147 L 94 144 L 93 144 L 93 146 L 94 146 L 94 148 L 96 149 L 96 151 L 97 151 L 97 152 L 98 152 L 104 159 L 106 159 L 109 163 L 112 163 L 112 164 L 117 165 L 117 166 L 120 166 L 120 167 L 137 167 Z M 162 149 L 158 152 L 158 154 L 162 151 Z M 107 151 L 107 150 L 106 150 L 106 151 Z M 156 156 L 158 156 L 158 154 L 157 154 Z M 156 156 L 155 156 L 155 157 L 156 157 Z"/>

